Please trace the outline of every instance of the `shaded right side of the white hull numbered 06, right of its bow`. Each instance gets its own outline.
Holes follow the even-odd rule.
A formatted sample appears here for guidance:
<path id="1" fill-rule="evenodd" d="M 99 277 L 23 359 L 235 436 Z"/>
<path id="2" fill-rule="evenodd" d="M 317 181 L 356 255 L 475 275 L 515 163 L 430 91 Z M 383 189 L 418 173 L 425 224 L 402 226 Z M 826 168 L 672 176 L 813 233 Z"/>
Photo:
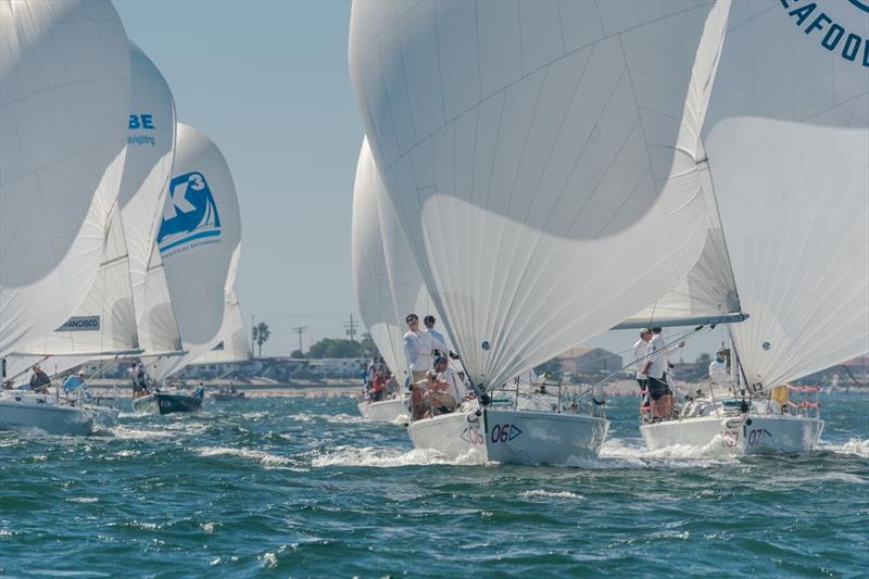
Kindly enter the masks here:
<path id="1" fill-rule="evenodd" d="M 597 457 L 608 428 L 594 416 L 487 408 L 487 454 L 505 464 L 576 464 Z"/>

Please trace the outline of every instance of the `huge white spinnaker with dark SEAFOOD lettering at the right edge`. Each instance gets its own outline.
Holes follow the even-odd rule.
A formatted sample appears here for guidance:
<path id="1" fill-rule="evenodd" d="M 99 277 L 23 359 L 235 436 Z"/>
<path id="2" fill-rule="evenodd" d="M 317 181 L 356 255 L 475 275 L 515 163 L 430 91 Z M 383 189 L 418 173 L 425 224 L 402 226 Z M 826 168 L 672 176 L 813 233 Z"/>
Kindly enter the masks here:
<path id="1" fill-rule="evenodd" d="M 703 139 L 759 388 L 869 351 L 866 3 L 733 4 Z"/>

